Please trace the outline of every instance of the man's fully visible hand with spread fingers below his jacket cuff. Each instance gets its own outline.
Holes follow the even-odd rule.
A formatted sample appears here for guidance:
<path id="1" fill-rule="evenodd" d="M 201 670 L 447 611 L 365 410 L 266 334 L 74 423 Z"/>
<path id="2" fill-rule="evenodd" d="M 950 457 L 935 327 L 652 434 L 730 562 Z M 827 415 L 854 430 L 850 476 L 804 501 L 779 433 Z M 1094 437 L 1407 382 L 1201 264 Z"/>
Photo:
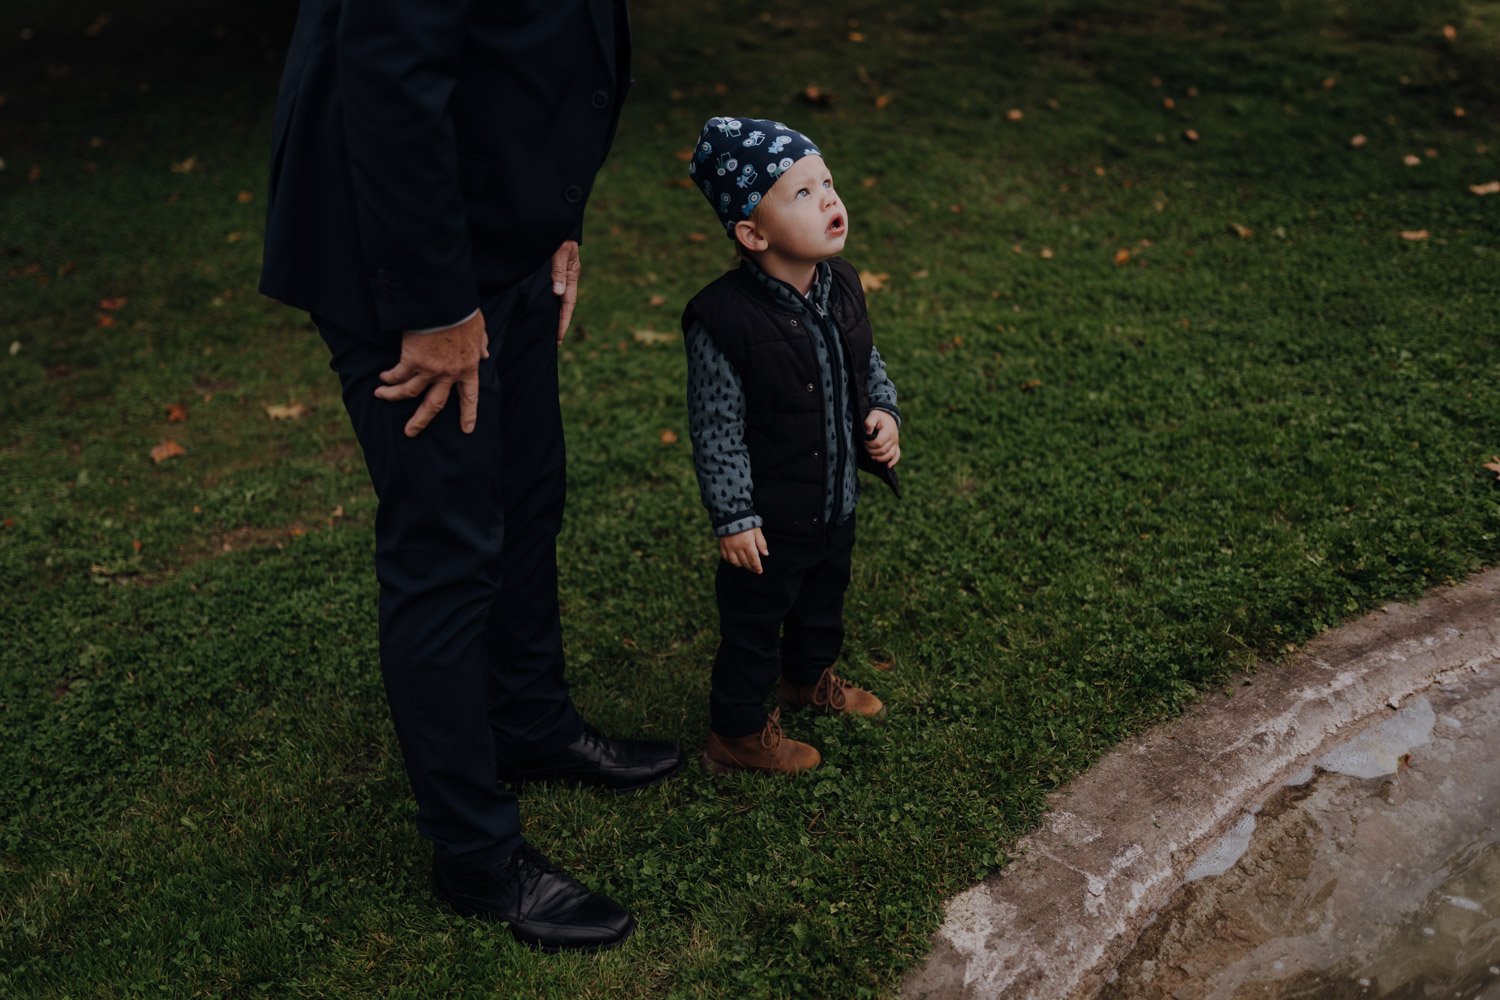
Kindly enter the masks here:
<path id="1" fill-rule="evenodd" d="M 406 436 L 416 438 L 447 405 L 448 393 L 458 384 L 459 426 L 470 433 L 478 420 L 478 363 L 488 357 L 482 312 L 447 330 L 404 333 L 400 361 L 380 373 L 380 381 L 386 384 L 375 390 L 375 396 L 386 400 L 423 396 L 417 412 L 406 421 Z"/>

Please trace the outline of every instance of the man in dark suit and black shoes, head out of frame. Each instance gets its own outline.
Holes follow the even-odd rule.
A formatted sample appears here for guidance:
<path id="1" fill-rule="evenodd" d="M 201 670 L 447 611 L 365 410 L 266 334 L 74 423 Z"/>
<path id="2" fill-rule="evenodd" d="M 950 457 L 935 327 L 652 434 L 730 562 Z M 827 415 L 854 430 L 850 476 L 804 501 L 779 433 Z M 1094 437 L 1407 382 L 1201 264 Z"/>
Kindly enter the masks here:
<path id="1" fill-rule="evenodd" d="M 624 0 L 303 0 L 272 156 L 261 291 L 316 321 L 380 496 L 381 672 L 434 889 L 548 951 L 634 921 L 525 844 L 498 781 L 682 765 L 584 724 L 556 601 L 556 345 L 628 54 Z"/>

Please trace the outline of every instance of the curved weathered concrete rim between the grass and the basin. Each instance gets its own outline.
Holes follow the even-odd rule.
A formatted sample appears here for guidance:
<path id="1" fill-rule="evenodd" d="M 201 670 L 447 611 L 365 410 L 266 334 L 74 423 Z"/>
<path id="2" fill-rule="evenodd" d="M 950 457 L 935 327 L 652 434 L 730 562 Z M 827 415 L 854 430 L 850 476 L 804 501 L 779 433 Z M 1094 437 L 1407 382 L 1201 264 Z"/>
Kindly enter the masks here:
<path id="1" fill-rule="evenodd" d="M 908 1000 L 1095 996 L 1198 855 L 1326 745 L 1500 660 L 1500 568 L 1386 604 L 1130 738 L 948 903 Z"/>

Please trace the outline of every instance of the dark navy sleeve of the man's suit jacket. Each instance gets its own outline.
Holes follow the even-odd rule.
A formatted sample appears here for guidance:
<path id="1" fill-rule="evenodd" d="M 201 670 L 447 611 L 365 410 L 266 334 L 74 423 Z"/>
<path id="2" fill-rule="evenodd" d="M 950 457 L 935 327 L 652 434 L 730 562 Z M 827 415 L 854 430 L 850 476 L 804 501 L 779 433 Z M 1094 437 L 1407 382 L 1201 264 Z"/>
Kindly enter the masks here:
<path id="1" fill-rule="evenodd" d="M 338 79 L 360 252 L 384 330 L 478 304 L 450 100 L 472 0 L 340 0 Z"/>

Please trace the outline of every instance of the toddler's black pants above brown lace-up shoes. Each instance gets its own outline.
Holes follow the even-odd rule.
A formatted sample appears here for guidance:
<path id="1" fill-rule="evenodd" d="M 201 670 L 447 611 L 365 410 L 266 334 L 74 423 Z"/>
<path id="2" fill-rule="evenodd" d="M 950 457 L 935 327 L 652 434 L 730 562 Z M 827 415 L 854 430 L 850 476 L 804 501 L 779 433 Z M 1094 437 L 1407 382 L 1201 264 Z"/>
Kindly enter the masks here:
<path id="1" fill-rule="evenodd" d="M 764 573 L 718 562 L 718 654 L 708 699 L 720 736 L 765 727 L 765 696 L 777 678 L 818 681 L 843 649 L 843 595 L 849 589 L 854 517 L 822 535 L 765 532 Z"/>

